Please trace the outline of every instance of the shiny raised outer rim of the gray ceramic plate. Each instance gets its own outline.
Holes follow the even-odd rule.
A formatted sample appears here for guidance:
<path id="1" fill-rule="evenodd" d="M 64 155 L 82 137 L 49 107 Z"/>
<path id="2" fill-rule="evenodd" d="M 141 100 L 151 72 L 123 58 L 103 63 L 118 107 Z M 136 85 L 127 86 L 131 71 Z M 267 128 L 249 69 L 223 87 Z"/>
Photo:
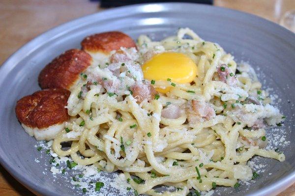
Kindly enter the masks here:
<path id="1" fill-rule="evenodd" d="M 17 51 L 15 51 L 11 56 L 9 56 L 3 64 L 0 66 L 0 73 L 8 73 L 10 72 L 23 58 L 28 56 L 29 54 L 36 51 L 39 47 L 43 46 L 47 42 L 50 42 L 51 40 L 55 39 L 56 37 L 59 37 L 68 31 L 74 30 L 80 26 L 85 26 L 87 23 L 81 23 L 81 21 L 87 21 L 88 18 L 96 17 L 99 15 L 107 15 L 109 13 L 118 12 L 120 10 L 124 9 L 131 9 L 131 8 L 139 8 L 146 5 L 189 5 L 189 6 L 198 6 L 198 7 L 210 7 L 210 9 L 217 9 L 217 10 L 227 10 L 228 12 L 239 14 L 240 16 L 244 15 L 245 17 L 253 18 L 253 20 L 262 22 L 264 24 L 273 26 L 274 28 L 280 29 L 283 32 L 289 34 L 289 36 L 293 36 L 295 39 L 295 33 L 290 31 L 287 28 L 284 28 L 276 23 L 273 23 L 271 21 L 268 21 L 264 18 L 261 18 L 259 16 L 256 16 L 254 14 L 246 13 L 243 11 L 238 11 L 230 8 L 225 7 L 218 7 L 218 6 L 212 6 L 207 4 L 198 4 L 198 3 L 184 3 L 184 2 L 162 2 L 162 3 L 141 3 L 141 4 L 134 4 L 134 5 L 127 5 L 127 6 L 121 6 L 116 8 L 110 8 L 107 10 L 102 10 L 99 12 L 95 12 L 83 17 L 76 18 L 74 20 L 70 20 L 68 22 L 62 23 L 59 26 L 50 28 L 43 33 L 39 34 L 29 42 L 25 43 L 23 46 L 21 46 Z M 160 10 L 163 11 L 163 10 Z M 159 12 L 159 11 L 156 11 Z M 171 11 L 170 11 L 171 12 Z M 149 13 L 149 12 L 147 12 Z M 126 14 L 129 15 L 129 14 Z M 91 24 L 91 22 L 88 22 Z M 73 25 L 74 24 L 74 25 Z M 66 28 L 66 27 L 70 28 Z M 57 32 L 57 33 L 56 33 Z M 45 39 L 47 37 L 51 37 L 50 39 Z M 280 36 L 279 36 L 280 37 Z M 41 41 L 41 42 L 40 42 Z M 295 47 L 295 46 L 294 46 Z M 29 52 L 28 52 L 29 51 Z M 26 54 L 26 55 L 23 55 Z M 0 78 L 0 85 L 3 83 L 5 77 Z M 47 190 L 43 186 L 40 186 L 39 184 L 35 184 L 31 179 L 26 178 L 27 175 L 24 175 L 21 170 L 19 170 L 16 166 L 10 165 L 9 160 L 5 160 L 2 153 L 0 153 L 0 164 L 7 172 L 10 173 L 10 175 L 13 176 L 18 182 L 20 182 L 22 185 L 24 185 L 26 188 L 28 188 L 32 193 L 39 195 L 55 195 L 56 193 L 51 190 Z M 26 179 L 26 180 L 25 180 Z M 292 184 L 295 183 L 295 170 L 290 172 L 288 175 L 283 177 L 282 179 L 270 183 L 267 187 L 264 187 L 262 189 L 259 189 L 256 193 L 249 194 L 250 196 L 264 196 L 264 195 L 276 195 L 278 193 L 281 193 L 282 191 L 286 190 L 288 187 L 290 187 Z"/>

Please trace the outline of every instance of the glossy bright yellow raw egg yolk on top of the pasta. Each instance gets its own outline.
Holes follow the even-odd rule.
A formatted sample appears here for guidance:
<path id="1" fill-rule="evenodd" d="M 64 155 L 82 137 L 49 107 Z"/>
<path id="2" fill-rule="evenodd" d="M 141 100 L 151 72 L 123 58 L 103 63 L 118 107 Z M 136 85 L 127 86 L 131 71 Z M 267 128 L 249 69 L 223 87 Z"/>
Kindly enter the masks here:
<path id="1" fill-rule="evenodd" d="M 197 76 L 197 65 L 194 61 L 182 54 L 175 52 L 165 52 L 153 56 L 143 66 L 144 78 L 147 80 L 167 81 L 172 83 L 191 83 Z M 167 93 L 171 87 L 156 88 L 161 93 Z"/>

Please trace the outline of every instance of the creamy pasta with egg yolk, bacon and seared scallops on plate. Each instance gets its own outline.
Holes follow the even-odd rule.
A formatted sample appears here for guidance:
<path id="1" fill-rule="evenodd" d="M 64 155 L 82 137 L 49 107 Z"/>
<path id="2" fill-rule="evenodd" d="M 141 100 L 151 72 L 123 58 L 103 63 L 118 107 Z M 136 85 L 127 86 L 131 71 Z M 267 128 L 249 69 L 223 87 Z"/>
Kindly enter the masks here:
<path id="1" fill-rule="evenodd" d="M 271 131 L 266 127 L 280 125 L 285 116 L 271 105 L 254 69 L 237 64 L 217 43 L 180 28 L 161 41 L 141 35 L 137 45 L 121 32 L 99 33 L 85 38 L 82 49 L 94 60 L 80 60 L 81 70 L 73 62 L 73 78 L 46 85 L 39 78 L 41 87 L 70 90 L 59 107 L 43 109 L 64 117 L 65 128 L 55 138 L 43 138 L 54 139 L 56 157 L 121 172 L 127 190 L 152 196 L 160 195 L 153 189 L 158 185 L 172 186 L 162 194 L 175 196 L 192 189 L 198 195 L 216 186 L 237 188 L 240 180 L 257 177 L 247 165 L 253 156 L 285 160 L 284 153 L 266 149 L 266 131 Z M 41 79 L 63 69 L 63 62 L 55 59 Z M 22 124 L 38 127 L 30 111 L 43 106 L 41 95 L 49 91 L 18 101 Z M 35 106 L 30 100 L 37 98 Z M 64 142 L 71 147 L 63 149 Z"/>

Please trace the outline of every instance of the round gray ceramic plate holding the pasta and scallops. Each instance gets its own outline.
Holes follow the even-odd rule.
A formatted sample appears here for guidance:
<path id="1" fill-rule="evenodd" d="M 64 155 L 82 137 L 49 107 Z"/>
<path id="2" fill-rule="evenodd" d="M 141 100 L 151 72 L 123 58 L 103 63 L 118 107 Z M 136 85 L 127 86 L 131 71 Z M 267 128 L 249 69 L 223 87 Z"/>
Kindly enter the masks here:
<path id="1" fill-rule="evenodd" d="M 81 40 L 92 33 L 120 30 L 133 38 L 149 34 L 155 39 L 189 27 L 205 40 L 219 43 L 237 61 L 249 61 L 260 68 L 264 83 L 281 98 L 280 109 L 289 120 L 294 118 L 295 34 L 259 17 L 219 7 L 159 3 L 120 7 L 89 15 L 43 33 L 12 55 L 0 68 L 0 162 L 17 180 L 41 195 L 73 195 L 63 180 L 44 176 L 49 157 L 40 156 L 34 138 L 27 135 L 15 117 L 15 103 L 39 90 L 37 76 L 55 56 L 79 48 Z M 287 119 L 287 121 L 288 121 Z M 261 159 L 265 172 L 250 187 L 220 188 L 221 195 L 275 195 L 295 182 L 294 122 L 285 123 L 290 145 L 280 147 L 286 161 Z M 292 130 L 292 131 L 291 131 Z M 269 130 L 271 132 L 272 130 Z M 271 173 L 271 174 L 270 174 Z M 80 192 L 76 193 L 81 194 Z M 75 194 L 75 195 L 76 195 Z"/>

